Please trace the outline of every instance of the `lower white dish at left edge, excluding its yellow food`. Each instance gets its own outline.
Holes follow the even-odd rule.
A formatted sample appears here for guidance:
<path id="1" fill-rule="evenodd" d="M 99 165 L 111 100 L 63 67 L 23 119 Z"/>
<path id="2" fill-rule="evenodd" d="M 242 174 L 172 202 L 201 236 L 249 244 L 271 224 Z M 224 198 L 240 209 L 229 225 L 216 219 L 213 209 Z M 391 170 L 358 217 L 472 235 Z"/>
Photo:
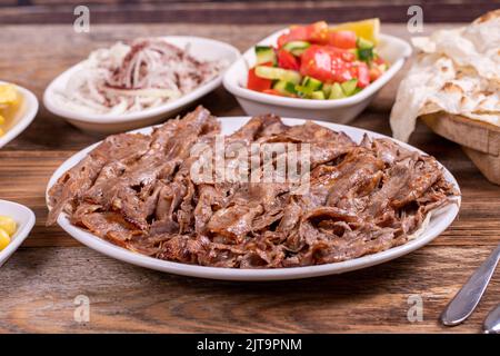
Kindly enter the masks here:
<path id="1" fill-rule="evenodd" d="M 16 234 L 11 237 L 10 244 L 0 251 L 0 267 L 21 246 L 34 226 L 34 212 L 23 205 L 0 200 L 0 215 L 9 216 L 17 224 Z"/>

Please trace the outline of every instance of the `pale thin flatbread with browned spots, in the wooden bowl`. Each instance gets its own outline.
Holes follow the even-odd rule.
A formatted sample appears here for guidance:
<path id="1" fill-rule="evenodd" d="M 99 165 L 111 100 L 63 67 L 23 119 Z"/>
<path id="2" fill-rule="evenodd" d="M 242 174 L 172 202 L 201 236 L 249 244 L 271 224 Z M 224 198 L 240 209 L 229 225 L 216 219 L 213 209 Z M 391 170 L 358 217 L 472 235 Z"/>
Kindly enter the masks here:
<path id="1" fill-rule="evenodd" d="M 412 43 L 419 53 L 392 107 L 394 138 L 408 141 L 417 118 L 438 111 L 500 127 L 500 10 Z"/>

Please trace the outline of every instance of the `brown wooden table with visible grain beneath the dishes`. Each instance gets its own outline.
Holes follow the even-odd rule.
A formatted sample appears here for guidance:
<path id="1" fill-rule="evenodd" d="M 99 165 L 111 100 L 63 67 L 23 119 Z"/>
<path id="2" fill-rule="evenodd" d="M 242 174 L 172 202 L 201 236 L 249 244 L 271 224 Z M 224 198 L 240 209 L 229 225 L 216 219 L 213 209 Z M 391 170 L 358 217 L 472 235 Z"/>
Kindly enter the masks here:
<path id="1" fill-rule="evenodd" d="M 426 26 L 434 30 L 439 24 Z M 49 81 L 91 49 L 144 34 L 212 37 L 244 50 L 280 26 L 70 26 L 0 27 L 1 79 L 41 98 Z M 408 38 L 402 24 L 388 33 Z M 399 77 L 400 78 L 400 77 Z M 399 78 L 353 126 L 390 135 L 388 115 Z M 241 115 L 222 88 L 201 100 L 218 116 Z M 46 227 L 44 190 L 53 170 L 100 137 L 83 134 L 43 108 L 30 128 L 0 150 L 0 198 L 32 208 L 37 225 L 0 269 L 0 332 L 153 333 L 478 333 L 499 301 L 500 274 L 478 310 L 461 326 L 438 316 L 500 240 L 500 187 L 489 184 L 460 148 L 422 125 L 411 144 L 436 156 L 463 194 L 459 218 L 429 246 L 377 267 L 307 280 L 228 283 L 161 274 L 108 258 L 79 245 L 59 227 Z M 78 295 L 90 298 L 90 322 L 73 318 Z M 407 318 L 411 296 L 423 300 L 423 320 Z"/>

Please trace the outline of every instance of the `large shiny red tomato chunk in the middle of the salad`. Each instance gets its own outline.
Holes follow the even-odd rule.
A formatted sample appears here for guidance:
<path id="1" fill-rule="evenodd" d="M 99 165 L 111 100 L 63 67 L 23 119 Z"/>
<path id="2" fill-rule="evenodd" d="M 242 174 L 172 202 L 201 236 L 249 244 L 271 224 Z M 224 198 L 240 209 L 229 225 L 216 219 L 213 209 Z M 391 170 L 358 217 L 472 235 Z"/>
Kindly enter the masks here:
<path id="1" fill-rule="evenodd" d="M 331 46 L 311 46 L 301 56 L 300 73 L 322 82 L 343 82 L 354 78 L 354 55 Z"/>

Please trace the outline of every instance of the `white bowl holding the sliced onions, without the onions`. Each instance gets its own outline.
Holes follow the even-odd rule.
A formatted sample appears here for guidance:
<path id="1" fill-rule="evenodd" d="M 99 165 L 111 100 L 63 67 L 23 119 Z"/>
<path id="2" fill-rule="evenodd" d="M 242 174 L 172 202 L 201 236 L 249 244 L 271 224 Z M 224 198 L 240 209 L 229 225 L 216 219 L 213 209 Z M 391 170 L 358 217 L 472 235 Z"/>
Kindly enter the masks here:
<path id="1" fill-rule="evenodd" d="M 234 47 L 207 38 L 192 36 L 166 36 L 163 38 L 180 48 L 189 46 L 189 53 L 197 59 L 222 60 L 227 62 L 228 67 L 240 57 L 240 51 Z M 224 72 L 222 71 L 216 78 L 200 86 L 198 89 L 187 93 L 186 96 L 161 106 L 129 113 L 99 115 L 78 112 L 60 106 L 57 100 L 54 100 L 54 92 L 64 91 L 69 78 L 76 71 L 80 70 L 82 65 L 83 62 L 80 62 L 71 67 L 57 77 L 49 85 L 49 87 L 47 87 L 46 92 L 43 93 L 43 105 L 52 113 L 67 119 L 71 125 L 82 130 L 106 134 L 122 132 L 157 123 L 166 118 L 173 117 L 193 101 L 200 99 L 202 96 L 219 87 L 222 82 L 222 76 Z"/>

